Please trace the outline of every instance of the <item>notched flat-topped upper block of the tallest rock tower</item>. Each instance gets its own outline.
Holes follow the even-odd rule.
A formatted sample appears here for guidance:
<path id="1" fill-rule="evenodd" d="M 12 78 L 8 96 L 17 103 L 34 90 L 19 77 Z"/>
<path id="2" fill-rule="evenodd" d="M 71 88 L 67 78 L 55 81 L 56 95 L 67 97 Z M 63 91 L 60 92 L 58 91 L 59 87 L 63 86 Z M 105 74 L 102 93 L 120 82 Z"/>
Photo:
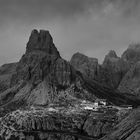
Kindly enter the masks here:
<path id="1" fill-rule="evenodd" d="M 32 51 L 43 51 L 51 55 L 58 55 L 59 52 L 53 43 L 53 38 L 48 30 L 32 30 L 26 47 L 26 53 Z"/>

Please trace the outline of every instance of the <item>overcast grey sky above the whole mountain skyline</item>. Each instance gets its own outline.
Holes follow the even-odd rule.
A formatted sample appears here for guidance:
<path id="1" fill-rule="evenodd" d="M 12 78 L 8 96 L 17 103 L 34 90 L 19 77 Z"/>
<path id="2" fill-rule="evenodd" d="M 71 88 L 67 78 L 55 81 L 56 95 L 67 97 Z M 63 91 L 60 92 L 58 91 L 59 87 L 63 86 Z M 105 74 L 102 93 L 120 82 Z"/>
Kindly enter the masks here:
<path id="1" fill-rule="evenodd" d="M 0 0 L 0 64 L 20 59 L 34 28 L 50 31 L 63 58 L 102 62 L 140 42 L 140 0 Z"/>

